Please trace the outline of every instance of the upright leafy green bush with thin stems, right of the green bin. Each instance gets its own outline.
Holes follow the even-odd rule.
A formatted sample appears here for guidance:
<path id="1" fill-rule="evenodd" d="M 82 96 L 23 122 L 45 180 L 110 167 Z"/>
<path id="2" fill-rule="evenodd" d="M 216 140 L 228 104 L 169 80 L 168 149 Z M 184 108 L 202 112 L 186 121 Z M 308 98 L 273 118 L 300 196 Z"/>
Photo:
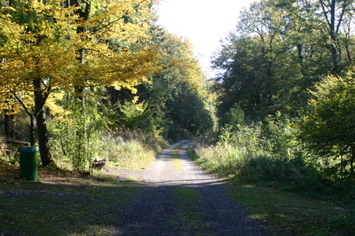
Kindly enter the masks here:
<path id="1" fill-rule="evenodd" d="M 100 136 L 106 130 L 106 122 L 100 116 L 98 100 L 94 93 L 80 96 L 68 93 L 60 101 L 65 112 L 51 123 L 52 139 L 57 140 L 54 143 L 61 151 L 58 156 L 70 160 L 79 172 L 91 172 L 91 163 L 102 150 Z"/>

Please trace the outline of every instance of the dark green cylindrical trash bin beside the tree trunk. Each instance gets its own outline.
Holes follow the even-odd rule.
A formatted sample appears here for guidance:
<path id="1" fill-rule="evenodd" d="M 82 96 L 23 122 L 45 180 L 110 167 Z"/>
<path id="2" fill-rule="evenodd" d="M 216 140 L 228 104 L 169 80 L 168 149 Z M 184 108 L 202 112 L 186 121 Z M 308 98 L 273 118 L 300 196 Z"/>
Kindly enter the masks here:
<path id="1" fill-rule="evenodd" d="M 36 147 L 20 147 L 20 177 L 37 181 Z"/>

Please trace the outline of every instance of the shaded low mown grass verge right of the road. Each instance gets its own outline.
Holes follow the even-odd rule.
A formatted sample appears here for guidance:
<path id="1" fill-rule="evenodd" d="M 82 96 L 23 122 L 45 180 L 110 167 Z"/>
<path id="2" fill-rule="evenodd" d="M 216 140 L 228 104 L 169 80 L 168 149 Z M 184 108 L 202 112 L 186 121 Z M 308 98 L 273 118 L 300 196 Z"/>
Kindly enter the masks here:
<path id="1" fill-rule="evenodd" d="M 189 154 L 196 162 L 204 162 L 192 149 Z M 214 174 L 223 176 L 220 172 Z M 355 208 L 351 204 L 318 201 L 232 178 L 228 186 L 233 199 L 248 208 L 249 216 L 275 235 L 355 235 Z"/>

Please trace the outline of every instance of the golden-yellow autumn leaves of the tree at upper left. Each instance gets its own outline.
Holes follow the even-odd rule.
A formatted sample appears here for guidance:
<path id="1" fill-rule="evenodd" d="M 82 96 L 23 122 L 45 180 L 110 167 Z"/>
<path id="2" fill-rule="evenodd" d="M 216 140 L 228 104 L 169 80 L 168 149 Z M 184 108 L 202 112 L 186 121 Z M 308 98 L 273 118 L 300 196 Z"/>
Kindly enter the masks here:
<path id="1" fill-rule="evenodd" d="M 29 98 L 30 104 L 31 93 L 44 96 L 55 88 L 104 85 L 134 91 L 146 75 L 160 70 L 160 54 L 145 43 L 154 2 L 91 1 L 88 19 L 78 14 L 84 5 L 64 7 L 60 0 L 26 0 L 2 8 L 0 108 L 13 102 L 8 94 Z M 43 88 L 34 84 L 38 79 Z"/>

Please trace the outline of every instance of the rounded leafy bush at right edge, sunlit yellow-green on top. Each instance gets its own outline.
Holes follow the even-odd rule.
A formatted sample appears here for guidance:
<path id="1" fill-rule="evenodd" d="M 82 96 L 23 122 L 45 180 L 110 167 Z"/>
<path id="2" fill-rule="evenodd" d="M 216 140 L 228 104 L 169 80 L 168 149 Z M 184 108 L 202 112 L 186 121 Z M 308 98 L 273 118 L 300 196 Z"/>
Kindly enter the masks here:
<path id="1" fill-rule="evenodd" d="M 311 92 L 300 138 L 333 177 L 355 177 L 355 80 L 329 75 Z M 329 171 L 330 170 L 330 171 Z"/>

